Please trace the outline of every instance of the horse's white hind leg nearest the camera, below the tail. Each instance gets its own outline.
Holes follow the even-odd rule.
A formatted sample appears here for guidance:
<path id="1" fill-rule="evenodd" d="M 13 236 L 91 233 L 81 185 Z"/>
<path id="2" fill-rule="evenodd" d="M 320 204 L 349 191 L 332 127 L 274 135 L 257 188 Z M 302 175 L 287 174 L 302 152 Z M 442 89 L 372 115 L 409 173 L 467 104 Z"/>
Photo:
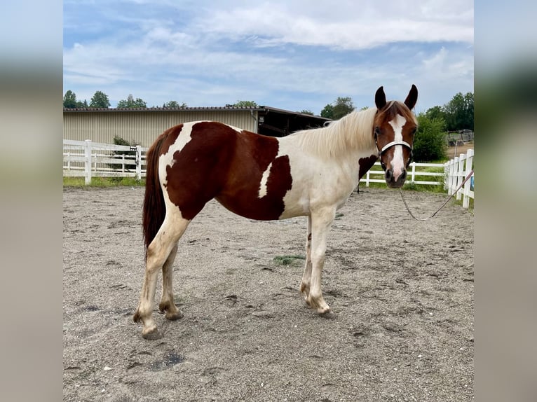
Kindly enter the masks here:
<path id="1" fill-rule="evenodd" d="M 177 219 L 170 219 L 170 217 L 167 215 L 154 240 L 151 242 L 151 244 L 149 244 L 149 247 L 147 247 L 142 294 L 140 295 L 140 303 L 138 304 L 138 308 L 133 317 L 135 322 L 142 320 L 142 323 L 144 324 L 144 328 L 142 329 L 142 337 L 146 339 L 161 338 L 153 319 L 156 277 L 161 268 L 164 270 L 164 265 L 165 263 L 168 263 L 168 261 L 170 262 L 168 264 L 167 271 L 169 272 L 169 277 L 171 277 L 171 265 L 173 263 L 173 258 L 170 257 L 175 257 L 172 256 L 172 252 L 174 250 L 176 251 L 177 242 L 181 238 L 188 225 L 189 221 L 186 219 L 182 219 L 180 217 Z M 168 286 L 166 287 L 168 289 Z M 175 308 L 177 309 L 177 307 Z M 174 313 L 175 311 L 172 312 L 172 314 Z"/>

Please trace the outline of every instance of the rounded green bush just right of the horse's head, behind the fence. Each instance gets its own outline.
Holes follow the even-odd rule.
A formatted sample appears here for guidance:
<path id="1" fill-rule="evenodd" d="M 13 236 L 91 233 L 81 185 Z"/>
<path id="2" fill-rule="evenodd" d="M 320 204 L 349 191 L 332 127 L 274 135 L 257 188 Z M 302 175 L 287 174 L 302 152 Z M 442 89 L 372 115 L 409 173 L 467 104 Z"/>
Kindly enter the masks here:
<path id="1" fill-rule="evenodd" d="M 444 130 L 446 123 L 443 118 L 428 118 L 426 113 L 419 113 L 418 131 L 414 138 L 414 160 L 430 162 L 446 158 L 446 141 Z"/>

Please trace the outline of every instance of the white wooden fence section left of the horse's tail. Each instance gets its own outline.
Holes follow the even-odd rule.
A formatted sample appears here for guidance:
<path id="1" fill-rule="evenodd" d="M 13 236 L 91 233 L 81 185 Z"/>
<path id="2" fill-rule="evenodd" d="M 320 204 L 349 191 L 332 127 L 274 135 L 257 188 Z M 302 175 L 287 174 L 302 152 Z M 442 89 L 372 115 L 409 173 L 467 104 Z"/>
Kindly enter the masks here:
<path id="1" fill-rule="evenodd" d="M 86 141 L 63 140 L 63 175 L 86 178 L 145 177 L 145 153 L 142 146 L 111 145 Z M 118 155 L 114 151 L 132 151 L 132 155 Z"/>

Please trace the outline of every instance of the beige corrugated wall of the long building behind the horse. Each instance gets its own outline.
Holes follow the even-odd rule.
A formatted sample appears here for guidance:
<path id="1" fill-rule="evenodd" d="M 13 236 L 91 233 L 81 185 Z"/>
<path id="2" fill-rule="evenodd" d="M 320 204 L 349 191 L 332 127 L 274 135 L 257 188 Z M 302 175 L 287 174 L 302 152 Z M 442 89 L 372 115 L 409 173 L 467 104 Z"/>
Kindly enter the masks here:
<path id="1" fill-rule="evenodd" d="M 151 146 L 164 130 L 197 120 L 215 120 L 257 132 L 257 111 L 64 111 L 63 138 L 113 144 L 118 136 Z"/>

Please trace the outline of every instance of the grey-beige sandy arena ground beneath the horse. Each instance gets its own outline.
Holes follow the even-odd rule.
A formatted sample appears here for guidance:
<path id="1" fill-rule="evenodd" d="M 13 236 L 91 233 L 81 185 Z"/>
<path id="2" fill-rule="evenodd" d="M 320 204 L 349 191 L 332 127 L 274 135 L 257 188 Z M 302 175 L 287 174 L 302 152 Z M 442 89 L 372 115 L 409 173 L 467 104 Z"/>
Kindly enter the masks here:
<path id="1" fill-rule="evenodd" d="M 210 202 L 179 243 L 184 318 L 155 314 L 164 337 L 148 341 L 132 322 L 143 191 L 64 189 L 64 401 L 473 400 L 473 215 L 459 205 L 418 222 L 396 190 L 351 195 L 329 235 L 325 319 L 299 295 L 304 260 L 277 262 L 304 256 L 306 219 Z M 444 200 L 406 194 L 417 215 Z"/>

